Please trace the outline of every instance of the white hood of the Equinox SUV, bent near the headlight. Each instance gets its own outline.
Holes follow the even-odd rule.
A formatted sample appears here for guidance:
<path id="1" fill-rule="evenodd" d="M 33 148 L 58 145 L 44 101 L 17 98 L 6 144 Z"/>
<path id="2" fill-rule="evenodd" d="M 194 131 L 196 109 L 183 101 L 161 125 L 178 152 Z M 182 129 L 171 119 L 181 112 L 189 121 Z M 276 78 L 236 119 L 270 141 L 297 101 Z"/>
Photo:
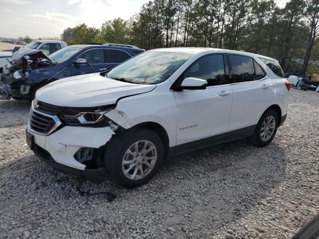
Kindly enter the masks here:
<path id="1" fill-rule="evenodd" d="M 93 73 L 54 81 L 37 90 L 35 98 L 55 106 L 97 107 L 115 104 L 120 98 L 155 88 L 156 85 L 121 82 Z"/>

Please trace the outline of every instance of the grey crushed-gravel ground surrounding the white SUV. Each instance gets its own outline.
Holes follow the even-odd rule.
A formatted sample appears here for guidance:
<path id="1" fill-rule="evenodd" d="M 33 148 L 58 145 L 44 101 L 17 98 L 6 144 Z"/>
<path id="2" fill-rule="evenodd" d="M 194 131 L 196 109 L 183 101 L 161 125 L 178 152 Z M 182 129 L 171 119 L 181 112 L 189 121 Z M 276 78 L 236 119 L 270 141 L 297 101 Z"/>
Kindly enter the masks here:
<path id="1" fill-rule="evenodd" d="M 319 212 L 319 93 L 291 90 L 265 148 L 246 140 L 175 157 L 147 185 L 77 181 L 24 146 L 29 105 L 0 101 L 0 238 L 286 239 Z"/>

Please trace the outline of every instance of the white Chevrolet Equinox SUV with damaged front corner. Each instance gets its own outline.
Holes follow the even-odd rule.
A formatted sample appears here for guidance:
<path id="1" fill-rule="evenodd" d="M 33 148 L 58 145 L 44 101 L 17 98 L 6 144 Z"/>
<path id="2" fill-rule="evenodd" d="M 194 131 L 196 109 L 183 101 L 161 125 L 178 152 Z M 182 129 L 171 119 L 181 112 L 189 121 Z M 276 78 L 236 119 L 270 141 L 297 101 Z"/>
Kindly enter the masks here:
<path id="1" fill-rule="evenodd" d="M 278 61 L 252 53 L 150 50 L 39 89 L 27 143 L 58 171 L 137 187 L 163 158 L 245 137 L 269 144 L 287 115 L 283 77 Z"/>

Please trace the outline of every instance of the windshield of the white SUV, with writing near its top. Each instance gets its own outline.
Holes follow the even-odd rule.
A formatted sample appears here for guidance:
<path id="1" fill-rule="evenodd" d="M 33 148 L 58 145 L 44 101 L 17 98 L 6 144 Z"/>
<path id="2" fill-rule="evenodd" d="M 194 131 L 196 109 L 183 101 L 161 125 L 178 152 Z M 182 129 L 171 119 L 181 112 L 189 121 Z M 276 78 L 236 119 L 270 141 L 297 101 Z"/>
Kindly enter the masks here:
<path id="1" fill-rule="evenodd" d="M 185 53 L 147 51 L 117 66 L 107 77 L 139 84 L 159 84 L 191 56 Z"/>

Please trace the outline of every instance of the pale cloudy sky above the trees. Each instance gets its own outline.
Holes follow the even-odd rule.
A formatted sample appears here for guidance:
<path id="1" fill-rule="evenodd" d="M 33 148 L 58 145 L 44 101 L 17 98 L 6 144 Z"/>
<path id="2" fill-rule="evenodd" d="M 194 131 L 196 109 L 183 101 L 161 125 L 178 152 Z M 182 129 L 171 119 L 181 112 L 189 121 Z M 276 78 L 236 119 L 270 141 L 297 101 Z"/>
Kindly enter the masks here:
<path id="1" fill-rule="evenodd" d="M 116 17 L 129 19 L 149 0 L 0 0 L 0 37 L 59 37 L 81 23 L 100 28 Z M 277 0 L 281 7 L 287 0 Z"/>

